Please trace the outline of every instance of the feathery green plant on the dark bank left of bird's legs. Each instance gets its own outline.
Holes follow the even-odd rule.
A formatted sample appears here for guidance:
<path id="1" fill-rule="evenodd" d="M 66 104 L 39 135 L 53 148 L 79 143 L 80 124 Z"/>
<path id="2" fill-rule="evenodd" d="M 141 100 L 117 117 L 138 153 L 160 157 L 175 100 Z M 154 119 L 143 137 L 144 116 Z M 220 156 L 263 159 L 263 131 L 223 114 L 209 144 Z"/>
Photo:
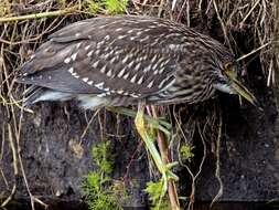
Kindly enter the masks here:
<path id="1" fill-rule="evenodd" d="M 90 210 L 121 210 L 119 200 L 127 198 L 121 185 L 110 178 L 112 161 L 110 141 L 103 141 L 92 148 L 96 170 L 89 172 L 82 185 L 83 195 Z"/>

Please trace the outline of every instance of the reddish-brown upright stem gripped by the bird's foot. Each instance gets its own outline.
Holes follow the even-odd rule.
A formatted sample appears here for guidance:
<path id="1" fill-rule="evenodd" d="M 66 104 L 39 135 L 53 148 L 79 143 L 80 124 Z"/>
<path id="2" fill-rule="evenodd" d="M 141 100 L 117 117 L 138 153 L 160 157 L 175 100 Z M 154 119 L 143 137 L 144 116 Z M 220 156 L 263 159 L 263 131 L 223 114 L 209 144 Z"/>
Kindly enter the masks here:
<path id="1" fill-rule="evenodd" d="M 157 108 L 154 106 L 151 106 L 151 111 L 152 111 L 153 117 L 158 118 Z M 157 143 L 158 143 L 158 147 L 159 147 L 163 164 L 165 165 L 170 164 L 171 158 L 169 157 L 168 143 L 165 140 L 165 136 L 160 130 L 158 130 Z M 168 192 L 169 192 L 172 210 L 180 210 L 179 196 L 176 192 L 174 180 L 172 179 L 168 180 Z"/>

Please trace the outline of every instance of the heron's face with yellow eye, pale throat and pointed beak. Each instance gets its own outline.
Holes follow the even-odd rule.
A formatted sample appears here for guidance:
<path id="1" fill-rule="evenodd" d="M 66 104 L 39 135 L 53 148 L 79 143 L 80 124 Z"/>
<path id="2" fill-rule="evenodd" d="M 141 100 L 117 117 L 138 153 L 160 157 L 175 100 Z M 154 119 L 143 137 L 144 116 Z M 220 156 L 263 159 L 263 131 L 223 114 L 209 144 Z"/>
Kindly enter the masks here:
<path id="1" fill-rule="evenodd" d="M 217 73 L 217 78 L 214 81 L 213 86 L 225 93 L 237 94 L 254 105 L 258 102 L 254 94 L 245 87 L 238 80 L 240 72 L 240 66 L 235 61 L 225 61 L 219 65 L 219 71 Z"/>

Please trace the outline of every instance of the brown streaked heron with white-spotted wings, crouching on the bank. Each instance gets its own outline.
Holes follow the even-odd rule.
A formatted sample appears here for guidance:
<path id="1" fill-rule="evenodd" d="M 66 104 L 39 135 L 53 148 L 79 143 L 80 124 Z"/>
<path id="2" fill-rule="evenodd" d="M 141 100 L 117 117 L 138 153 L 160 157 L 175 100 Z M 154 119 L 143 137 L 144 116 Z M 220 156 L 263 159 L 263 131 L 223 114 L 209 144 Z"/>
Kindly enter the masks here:
<path id="1" fill-rule="evenodd" d="M 31 85 L 25 105 L 68 99 L 92 109 L 138 104 L 136 127 L 168 180 L 176 177 L 146 130 L 144 104 L 193 104 L 216 91 L 256 104 L 237 80 L 239 71 L 219 42 L 183 24 L 150 17 L 101 17 L 53 33 L 20 67 L 17 81 Z"/>

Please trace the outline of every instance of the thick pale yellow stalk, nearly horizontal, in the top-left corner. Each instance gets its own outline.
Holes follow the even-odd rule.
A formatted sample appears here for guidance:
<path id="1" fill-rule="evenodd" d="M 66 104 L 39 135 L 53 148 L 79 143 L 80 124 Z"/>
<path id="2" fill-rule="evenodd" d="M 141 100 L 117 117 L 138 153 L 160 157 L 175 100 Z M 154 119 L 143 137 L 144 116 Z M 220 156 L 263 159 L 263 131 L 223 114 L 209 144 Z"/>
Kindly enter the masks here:
<path id="1" fill-rule="evenodd" d="M 63 15 L 63 14 L 76 12 L 76 11 L 77 11 L 77 7 L 72 7 L 72 8 L 68 8 L 65 10 L 57 10 L 57 11 L 51 11 L 51 12 L 41 12 L 41 13 L 25 14 L 25 15 L 19 15 L 19 17 L 7 17 L 7 18 L 0 18 L 0 23 L 30 20 L 30 19 L 41 19 L 41 18 L 49 18 L 49 17 L 57 17 L 57 15 Z"/>

